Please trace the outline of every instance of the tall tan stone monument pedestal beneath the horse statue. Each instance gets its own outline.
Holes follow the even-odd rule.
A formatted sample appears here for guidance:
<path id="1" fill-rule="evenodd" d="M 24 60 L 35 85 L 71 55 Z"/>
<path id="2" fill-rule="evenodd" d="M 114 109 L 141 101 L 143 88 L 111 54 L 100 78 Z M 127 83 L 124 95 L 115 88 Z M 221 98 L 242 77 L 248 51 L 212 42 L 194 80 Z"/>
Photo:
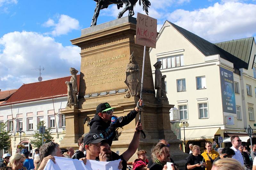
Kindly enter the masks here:
<path id="1" fill-rule="evenodd" d="M 116 107 L 114 115 L 120 117 L 128 114 L 136 106 L 139 96 L 124 98 L 127 85 L 126 66 L 129 56 L 133 52 L 135 61 L 142 72 L 144 46 L 136 45 L 136 18 L 124 17 L 114 21 L 96 25 L 82 30 L 82 36 L 71 40 L 73 45 L 81 47 L 81 73 L 78 96 L 78 110 L 63 111 L 66 115 L 66 136 L 61 145 L 76 143 L 77 139 L 90 128 L 84 119 L 90 121 L 94 117 L 98 104 L 108 102 L 111 107 Z M 141 122 L 146 138 L 140 138 L 140 149 L 146 149 L 148 156 L 150 149 L 161 138 L 171 144 L 171 155 L 180 155 L 184 159 L 183 152 L 178 150 L 182 142 L 171 131 L 169 110 L 173 107 L 167 103 L 157 103 L 153 84 L 152 70 L 149 58 L 149 48 L 146 48 L 143 101 Z M 113 141 L 113 151 L 124 152 L 132 140 L 137 117 L 123 128 L 118 128 L 120 134 L 118 141 Z M 131 158 L 136 159 L 137 155 Z M 175 160 L 175 156 L 172 156 Z"/>

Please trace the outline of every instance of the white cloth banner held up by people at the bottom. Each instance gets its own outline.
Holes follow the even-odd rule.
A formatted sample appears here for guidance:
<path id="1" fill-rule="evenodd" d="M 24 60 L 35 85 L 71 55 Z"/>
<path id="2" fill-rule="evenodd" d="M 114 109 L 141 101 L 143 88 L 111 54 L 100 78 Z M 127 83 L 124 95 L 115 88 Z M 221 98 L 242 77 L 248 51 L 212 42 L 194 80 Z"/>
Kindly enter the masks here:
<path id="1" fill-rule="evenodd" d="M 44 170 L 119 170 L 118 165 L 121 159 L 110 162 L 102 162 L 96 160 L 87 160 L 86 165 L 78 159 L 69 159 L 64 157 L 54 157 L 56 164 L 50 159 L 48 160 Z"/>

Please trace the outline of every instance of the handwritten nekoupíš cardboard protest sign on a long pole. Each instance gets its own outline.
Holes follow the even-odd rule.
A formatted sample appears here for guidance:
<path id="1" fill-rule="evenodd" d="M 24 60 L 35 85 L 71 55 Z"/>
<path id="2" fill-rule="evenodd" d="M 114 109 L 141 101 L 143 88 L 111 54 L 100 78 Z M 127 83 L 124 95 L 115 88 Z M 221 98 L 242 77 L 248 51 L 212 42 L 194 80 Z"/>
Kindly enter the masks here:
<path id="1" fill-rule="evenodd" d="M 141 13 L 137 14 L 137 26 L 136 26 L 136 39 L 135 44 L 144 46 L 143 63 L 142 63 L 142 75 L 141 75 L 141 87 L 140 87 L 140 100 L 142 100 L 143 91 L 143 79 L 144 79 L 144 67 L 146 46 L 156 48 L 156 36 L 157 36 L 157 20 Z M 141 120 L 141 106 L 139 114 L 139 123 Z M 146 138 L 146 135 L 141 131 L 142 138 Z"/>

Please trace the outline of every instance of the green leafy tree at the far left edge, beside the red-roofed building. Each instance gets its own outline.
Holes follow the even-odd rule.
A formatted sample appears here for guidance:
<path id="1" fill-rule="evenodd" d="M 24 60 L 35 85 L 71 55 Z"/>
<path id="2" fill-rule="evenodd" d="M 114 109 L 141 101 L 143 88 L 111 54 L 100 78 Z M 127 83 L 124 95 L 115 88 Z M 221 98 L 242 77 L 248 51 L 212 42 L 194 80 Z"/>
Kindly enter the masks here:
<path id="1" fill-rule="evenodd" d="M 11 147 L 11 138 L 9 131 L 6 131 L 7 123 L 1 123 L 0 124 L 0 154 L 1 150 L 7 150 Z"/>

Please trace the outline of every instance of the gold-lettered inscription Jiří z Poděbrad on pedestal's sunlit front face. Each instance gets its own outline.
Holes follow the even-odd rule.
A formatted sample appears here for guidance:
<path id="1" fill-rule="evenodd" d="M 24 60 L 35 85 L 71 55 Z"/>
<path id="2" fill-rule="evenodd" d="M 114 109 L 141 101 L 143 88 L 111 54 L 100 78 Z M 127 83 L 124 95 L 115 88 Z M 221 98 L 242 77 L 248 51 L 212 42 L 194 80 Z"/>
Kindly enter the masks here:
<path id="1" fill-rule="evenodd" d="M 86 93 L 124 87 L 126 53 L 118 55 L 98 54 L 82 60 L 81 71 L 87 87 Z M 104 57 L 105 56 L 105 57 Z M 92 88 L 90 88 L 92 87 Z"/>

